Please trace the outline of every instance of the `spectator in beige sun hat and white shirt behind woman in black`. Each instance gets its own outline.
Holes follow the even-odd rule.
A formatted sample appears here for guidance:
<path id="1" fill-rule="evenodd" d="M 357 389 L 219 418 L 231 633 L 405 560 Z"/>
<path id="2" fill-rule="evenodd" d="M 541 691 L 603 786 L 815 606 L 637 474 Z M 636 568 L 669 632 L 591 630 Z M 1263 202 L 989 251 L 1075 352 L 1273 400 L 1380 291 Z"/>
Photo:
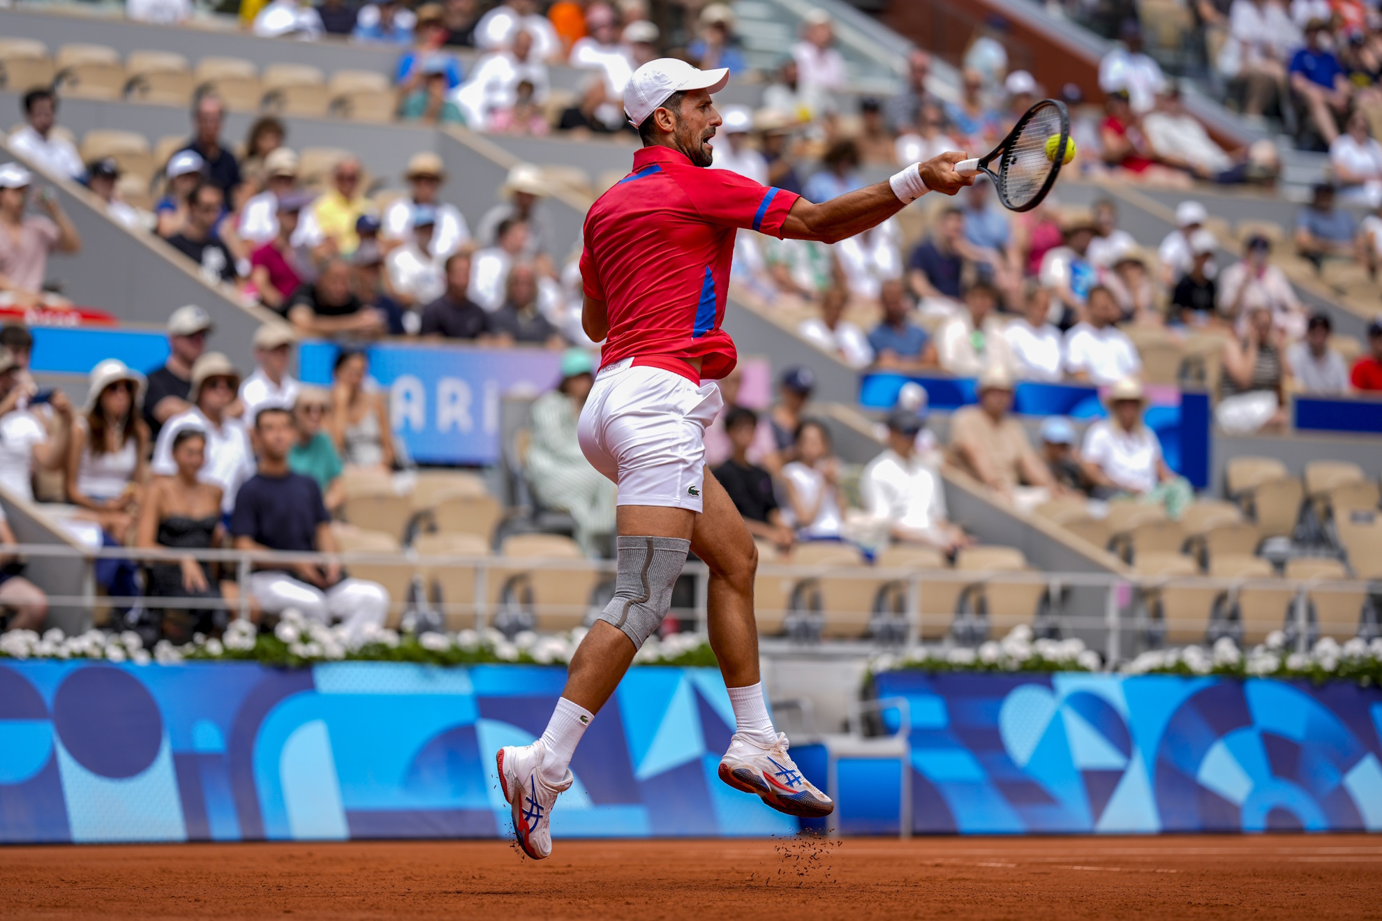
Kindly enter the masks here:
<path id="1" fill-rule="evenodd" d="M 176 476 L 173 442 L 184 429 L 199 429 L 206 435 L 206 464 L 203 482 L 221 487 L 221 511 L 235 508 L 235 494 L 254 474 L 254 453 L 245 423 L 229 414 L 240 389 L 240 373 L 231 359 L 220 352 L 206 352 L 192 365 L 191 409 L 173 416 L 163 424 L 153 445 L 155 476 Z"/>

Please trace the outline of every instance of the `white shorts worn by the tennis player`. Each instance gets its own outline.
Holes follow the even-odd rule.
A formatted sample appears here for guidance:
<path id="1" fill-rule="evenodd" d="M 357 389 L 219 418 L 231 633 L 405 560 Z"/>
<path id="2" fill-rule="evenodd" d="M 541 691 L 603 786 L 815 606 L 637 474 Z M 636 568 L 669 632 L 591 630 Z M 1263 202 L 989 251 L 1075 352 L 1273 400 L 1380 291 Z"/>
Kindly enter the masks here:
<path id="1" fill-rule="evenodd" d="M 580 410 L 580 450 L 619 486 L 619 505 L 701 511 L 705 427 L 723 400 L 714 381 L 697 387 L 626 358 L 600 369 Z"/>

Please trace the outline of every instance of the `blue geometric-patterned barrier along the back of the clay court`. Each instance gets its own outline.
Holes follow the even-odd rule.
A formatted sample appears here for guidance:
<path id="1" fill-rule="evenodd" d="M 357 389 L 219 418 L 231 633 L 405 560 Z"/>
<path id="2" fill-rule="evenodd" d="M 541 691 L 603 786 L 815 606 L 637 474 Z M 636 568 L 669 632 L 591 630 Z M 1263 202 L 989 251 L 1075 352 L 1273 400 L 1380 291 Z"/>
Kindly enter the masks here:
<path id="1" fill-rule="evenodd" d="M 495 751 L 560 667 L 0 664 L 0 841 L 493 838 Z M 887 672 L 911 759 L 843 758 L 839 826 L 919 833 L 1382 830 L 1382 692 L 1271 679 Z M 884 711 L 897 729 L 898 710 Z M 716 776 L 734 711 L 709 668 L 629 671 L 586 730 L 557 837 L 781 835 Z M 803 740 L 804 741 L 804 740 Z M 825 787 L 822 746 L 793 746 Z"/>

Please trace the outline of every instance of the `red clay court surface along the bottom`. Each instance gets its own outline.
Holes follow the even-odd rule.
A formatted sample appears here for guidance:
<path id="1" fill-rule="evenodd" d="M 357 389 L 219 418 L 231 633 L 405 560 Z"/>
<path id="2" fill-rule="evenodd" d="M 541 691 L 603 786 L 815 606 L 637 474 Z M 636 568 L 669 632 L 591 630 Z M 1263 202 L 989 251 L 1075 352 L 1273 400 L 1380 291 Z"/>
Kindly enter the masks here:
<path id="1" fill-rule="evenodd" d="M 4 918 L 1364 918 L 1368 835 L 0 849 Z"/>

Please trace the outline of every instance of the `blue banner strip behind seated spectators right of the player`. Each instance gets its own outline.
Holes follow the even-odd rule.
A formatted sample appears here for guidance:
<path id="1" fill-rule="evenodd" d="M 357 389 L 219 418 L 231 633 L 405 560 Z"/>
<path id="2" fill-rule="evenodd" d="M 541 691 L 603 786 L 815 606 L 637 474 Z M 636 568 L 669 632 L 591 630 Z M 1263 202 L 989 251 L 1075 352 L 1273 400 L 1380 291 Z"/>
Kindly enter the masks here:
<path id="1" fill-rule="evenodd" d="M 860 403 L 869 409 L 891 409 L 902 385 L 915 381 L 926 389 L 934 410 L 954 411 L 978 402 L 972 377 L 929 377 L 880 371 L 860 378 Z M 1382 403 L 1378 405 L 1382 409 Z M 1068 416 L 1077 421 L 1104 418 L 1100 391 L 1088 384 L 1041 384 L 1021 381 L 1013 392 L 1019 416 Z M 1195 489 L 1209 486 L 1209 396 L 1175 387 L 1147 387 L 1147 427 L 1157 432 L 1171 469 Z M 1379 420 L 1382 424 L 1382 420 Z M 1382 429 L 1379 429 L 1382 431 Z"/>

